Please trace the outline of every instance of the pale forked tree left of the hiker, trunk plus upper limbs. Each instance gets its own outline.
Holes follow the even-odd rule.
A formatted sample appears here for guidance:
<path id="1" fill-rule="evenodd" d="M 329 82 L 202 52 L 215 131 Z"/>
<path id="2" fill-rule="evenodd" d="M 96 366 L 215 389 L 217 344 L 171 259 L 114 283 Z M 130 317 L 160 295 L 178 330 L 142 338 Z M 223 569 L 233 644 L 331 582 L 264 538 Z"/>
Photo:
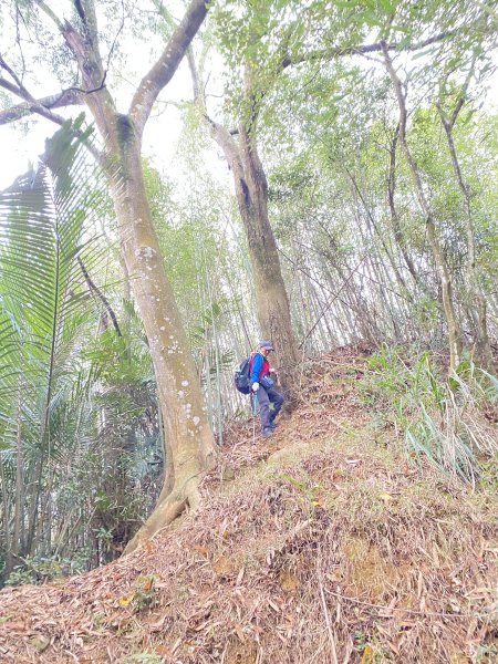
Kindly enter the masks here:
<path id="1" fill-rule="evenodd" d="M 212 466 L 216 455 L 199 380 L 154 230 L 141 158 L 142 136 L 153 104 L 200 27 L 206 4 L 191 0 L 159 60 L 138 85 L 127 115 L 116 113 L 110 92 L 101 84 L 105 76 L 93 0 L 85 0 L 81 9 L 84 34 L 68 22 L 61 30 L 77 60 L 85 89 L 95 91 L 84 101 L 104 141 L 102 163 L 111 184 L 123 260 L 151 347 L 167 450 L 158 504 L 128 542 L 125 552 L 129 552 L 187 506 L 196 509 L 200 475 Z"/>

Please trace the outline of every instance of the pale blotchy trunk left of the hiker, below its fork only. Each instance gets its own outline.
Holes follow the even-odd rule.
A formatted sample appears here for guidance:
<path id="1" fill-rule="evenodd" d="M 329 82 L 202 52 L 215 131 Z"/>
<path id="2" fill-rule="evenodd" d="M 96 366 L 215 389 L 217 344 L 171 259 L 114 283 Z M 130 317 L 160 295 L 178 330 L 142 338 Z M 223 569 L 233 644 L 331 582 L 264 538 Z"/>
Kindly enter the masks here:
<path id="1" fill-rule="evenodd" d="M 129 551 L 175 518 L 187 504 L 191 508 L 198 505 L 200 474 L 214 463 L 215 445 L 152 224 L 139 141 L 129 117 L 116 116 L 116 126 L 121 129 L 118 137 L 112 141 L 111 190 L 123 258 L 151 347 L 168 452 L 158 505 L 129 542 L 126 548 Z"/>

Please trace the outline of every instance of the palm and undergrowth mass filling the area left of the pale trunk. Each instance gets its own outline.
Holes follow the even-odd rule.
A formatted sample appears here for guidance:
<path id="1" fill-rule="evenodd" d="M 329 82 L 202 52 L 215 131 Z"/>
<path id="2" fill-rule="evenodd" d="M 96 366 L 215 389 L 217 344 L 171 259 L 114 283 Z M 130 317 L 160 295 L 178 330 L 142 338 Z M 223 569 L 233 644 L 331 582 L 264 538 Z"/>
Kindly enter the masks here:
<path id="1" fill-rule="evenodd" d="M 82 151 L 89 132 L 76 138 L 74 129 L 81 123 L 60 129 L 39 170 L 0 197 L 1 489 L 15 495 L 20 435 L 25 510 L 37 515 L 38 501 L 52 517 L 48 541 L 24 532 L 24 566 L 10 582 L 111 560 L 158 490 L 148 346 L 133 305 L 102 286 L 116 273 L 97 230 L 106 198 Z"/>

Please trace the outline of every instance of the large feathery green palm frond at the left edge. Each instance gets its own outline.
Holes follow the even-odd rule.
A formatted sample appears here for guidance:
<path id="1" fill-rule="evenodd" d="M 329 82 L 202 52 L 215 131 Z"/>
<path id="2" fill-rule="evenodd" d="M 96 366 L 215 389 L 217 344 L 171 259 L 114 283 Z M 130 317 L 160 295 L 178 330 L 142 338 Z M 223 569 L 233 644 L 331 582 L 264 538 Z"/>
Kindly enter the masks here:
<path id="1" fill-rule="evenodd" d="M 64 376 L 80 350 L 80 332 L 95 317 L 77 257 L 83 251 L 89 261 L 93 255 L 102 257 L 93 238 L 104 187 L 83 147 L 91 132 L 81 133 L 82 122 L 61 127 L 46 142 L 38 169 L 0 193 L 0 445 L 4 446 L 11 438 L 20 380 L 25 418 L 31 430 L 38 418 L 43 438 L 50 414 L 68 391 Z"/>

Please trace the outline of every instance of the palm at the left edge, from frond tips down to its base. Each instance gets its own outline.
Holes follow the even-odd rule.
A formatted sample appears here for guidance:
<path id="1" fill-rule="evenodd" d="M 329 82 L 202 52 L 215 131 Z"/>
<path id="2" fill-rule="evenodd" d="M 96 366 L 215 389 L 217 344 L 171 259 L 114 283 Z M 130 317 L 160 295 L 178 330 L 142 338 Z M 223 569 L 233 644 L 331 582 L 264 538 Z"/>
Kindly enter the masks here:
<path id="1" fill-rule="evenodd" d="M 102 259 L 92 231 L 104 196 L 82 147 L 90 134 L 82 118 L 63 125 L 46 142 L 38 168 L 0 194 L 0 511 L 7 574 L 40 538 L 50 549 L 55 461 L 82 439 L 76 432 L 85 418 L 77 413 L 89 395 L 89 372 L 81 349 L 96 314 L 89 272 Z M 61 428 L 68 415 L 77 418 L 70 440 Z"/>

